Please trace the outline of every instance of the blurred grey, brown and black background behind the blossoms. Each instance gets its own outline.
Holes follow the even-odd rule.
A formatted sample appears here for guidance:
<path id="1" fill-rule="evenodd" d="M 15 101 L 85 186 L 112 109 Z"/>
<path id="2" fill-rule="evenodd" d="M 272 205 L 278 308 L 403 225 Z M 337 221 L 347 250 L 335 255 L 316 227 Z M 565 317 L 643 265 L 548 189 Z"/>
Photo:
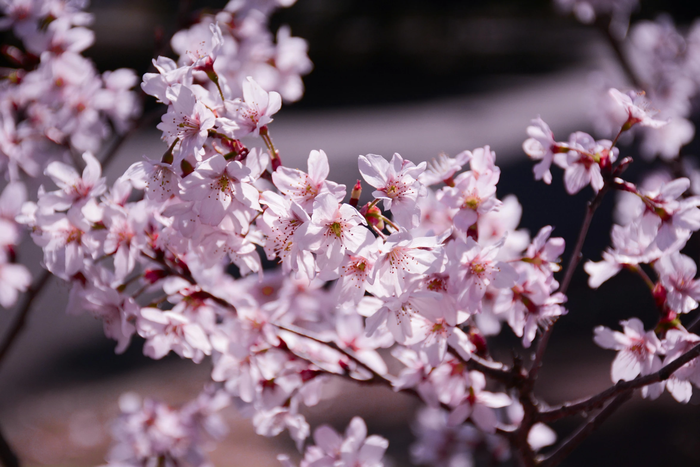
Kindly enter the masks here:
<path id="1" fill-rule="evenodd" d="M 190 1 L 189 11 L 221 8 L 225 1 Z M 700 3 L 642 1 L 633 20 L 670 13 L 678 25 L 700 16 Z M 96 42 L 85 55 L 101 70 L 129 67 L 143 74 L 160 37 L 176 29 L 173 0 L 92 0 Z M 591 197 L 586 188 L 566 195 L 561 171 L 551 186 L 533 181 L 521 150 L 531 118 L 542 116 L 556 139 L 574 130 L 591 131 L 591 73 L 624 88 L 626 80 L 607 39 L 598 29 L 556 15 L 548 0 L 297 0 L 272 17 L 272 30 L 290 25 L 309 42 L 314 70 L 304 77 L 306 93 L 283 106 L 270 127 L 285 165 L 304 168 L 309 151 L 330 158 L 330 178 L 351 185 L 358 154 L 419 162 L 440 151 L 454 155 L 491 145 L 502 174 L 499 197 L 514 193 L 523 205 L 521 227 L 531 234 L 543 225 L 572 244 Z M 171 52 L 168 50 L 168 52 Z M 153 99 L 146 111 L 157 111 Z M 165 109 L 164 109 L 165 110 Z M 696 126 L 700 123 L 694 116 Z M 698 148 L 689 147 L 689 154 Z M 155 123 L 135 132 L 106 172 L 112 183 L 142 155 L 160 157 L 165 147 Z M 622 155 L 636 156 L 634 146 Z M 635 181 L 650 166 L 637 162 L 627 172 Z M 598 211 L 584 257 L 598 259 L 608 245 L 613 197 Z M 689 254 L 695 260 L 700 251 Z M 568 253 L 566 253 L 568 254 Z M 25 244 L 25 264 L 38 271 L 40 252 Z M 568 258 L 567 256 L 565 256 Z M 587 396 L 610 385 L 614 354 L 594 345 L 592 329 L 615 326 L 635 315 L 654 323 L 656 310 L 643 283 L 622 272 L 598 291 L 579 270 L 570 288 L 568 316 L 552 335 L 538 394 L 547 403 Z M 118 412 L 118 396 L 136 391 L 169 403 L 195 396 L 209 379 L 209 363 L 195 365 L 169 356 L 151 361 L 134 339 L 116 356 L 101 323 L 66 316 L 65 284 L 54 281 L 36 300 L 18 345 L 3 362 L 0 426 L 27 465 L 97 466 L 109 447 L 107 423 Z M 0 314 L 4 330 L 12 312 Z M 510 361 L 527 357 L 510 329 L 491 342 Z M 409 465 L 409 425 L 416 402 L 391 391 L 337 382 L 325 400 L 307 411 L 312 427 L 330 421 L 341 429 L 353 415 L 365 418 L 370 433 L 390 440 L 393 465 Z M 688 405 L 667 394 L 650 403 L 633 399 L 596 435 L 577 449 L 566 466 L 700 465 L 700 397 Z M 278 452 L 293 454 L 288 435 L 255 435 L 249 421 L 227 412 L 231 433 L 221 442 L 216 466 L 277 466 Z M 577 420 L 554 425 L 560 436 Z"/>

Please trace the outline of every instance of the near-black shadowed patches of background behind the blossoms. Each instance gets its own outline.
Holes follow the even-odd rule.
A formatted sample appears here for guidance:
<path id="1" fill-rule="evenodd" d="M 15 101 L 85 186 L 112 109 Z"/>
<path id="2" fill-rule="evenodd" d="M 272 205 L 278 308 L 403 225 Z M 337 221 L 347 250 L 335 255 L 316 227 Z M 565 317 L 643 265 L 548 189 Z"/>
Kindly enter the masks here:
<path id="1" fill-rule="evenodd" d="M 130 67 L 144 73 L 158 46 L 157 37 L 169 36 L 175 29 L 176 4 L 172 0 L 92 0 L 97 41 L 85 55 L 101 71 Z M 219 8 L 224 4 L 192 1 L 190 6 L 191 11 L 200 11 L 205 5 Z M 642 4 L 633 20 L 652 19 L 666 12 L 673 15 L 678 25 L 687 26 L 700 16 L 697 1 Z M 309 42 L 309 57 L 314 62 L 314 70 L 304 78 L 304 98 L 291 104 L 290 109 L 477 94 L 522 76 L 544 76 L 572 67 L 586 53 L 591 37 L 601 34 L 572 18 L 556 15 L 545 0 L 298 0 L 291 8 L 272 16 L 273 30 L 282 24 L 290 25 L 295 36 Z M 154 105 L 151 99 L 146 100 L 146 109 Z M 694 123 L 696 127 L 700 125 L 697 116 Z M 634 146 L 622 148 L 621 153 L 639 159 Z M 686 153 L 697 153 L 697 144 L 689 146 Z M 551 224 L 556 226 L 555 235 L 564 237 L 568 245 L 573 244 L 591 190 L 586 188 L 570 197 L 563 189 L 559 169 L 553 169 L 552 186 L 546 186 L 533 181 L 531 162 L 524 157 L 518 161 L 503 168 L 499 197 L 507 193 L 517 195 L 524 208 L 521 226 L 532 235 L 542 225 Z M 626 178 L 636 181 L 652 166 L 635 162 Z M 608 245 L 612 207 L 610 195 L 591 224 L 583 249 L 584 260 L 597 260 L 599 252 Z M 699 259 L 697 244 L 694 239 L 686 251 L 694 260 Z M 564 258 L 568 259 L 568 251 Z M 607 371 L 614 354 L 593 344 L 594 326 L 614 327 L 619 319 L 631 316 L 639 316 L 652 326 L 657 319 L 650 293 L 632 274 L 623 271 L 598 291 L 591 291 L 586 279 L 579 267 L 569 291 L 569 314 L 557 323 L 545 356 L 538 389 L 550 403 L 561 402 L 557 389 L 562 385 L 586 380 L 590 370 L 587 361 L 603 361 L 595 370 Z M 34 389 L 70 386 L 158 365 L 141 355 L 140 344 L 132 343 L 122 356 L 115 356 L 112 342 L 106 340 L 104 345 L 58 356 L 41 381 L 34 383 Z M 528 356 L 507 326 L 492 345 L 506 360 L 511 349 Z M 173 358 L 177 357 L 170 357 Z M 601 379 L 601 375 L 596 378 Z M 31 382 L 27 383 L 27 390 L 32 390 Z M 699 401 L 694 397 L 689 405 L 680 405 L 668 395 L 657 402 L 635 401 L 612 417 L 563 465 L 700 465 L 700 409 L 695 405 Z M 411 438 L 406 426 L 379 422 L 375 425 L 370 421 L 370 432 L 376 428 L 390 438 L 389 453 L 396 465 L 407 463 L 407 443 Z M 554 428 L 563 437 L 574 426 L 574 421 L 566 421 Z"/>

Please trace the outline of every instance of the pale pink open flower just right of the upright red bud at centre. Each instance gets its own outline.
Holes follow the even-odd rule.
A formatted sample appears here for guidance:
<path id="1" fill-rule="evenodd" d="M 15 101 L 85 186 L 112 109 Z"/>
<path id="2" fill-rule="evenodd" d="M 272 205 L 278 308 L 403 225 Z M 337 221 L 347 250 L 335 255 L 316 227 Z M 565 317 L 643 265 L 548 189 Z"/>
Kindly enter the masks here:
<path id="1" fill-rule="evenodd" d="M 418 178 L 426 169 L 426 162 L 416 166 L 397 153 L 391 162 L 386 162 L 381 155 L 367 154 L 358 156 L 358 167 L 363 179 L 377 188 L 372 196 L 384 200 L 384 209 L 391 210 L 402 227 L 418 227 L 421 208 L 416 200 L 426 195 L 426 188 Z"/>

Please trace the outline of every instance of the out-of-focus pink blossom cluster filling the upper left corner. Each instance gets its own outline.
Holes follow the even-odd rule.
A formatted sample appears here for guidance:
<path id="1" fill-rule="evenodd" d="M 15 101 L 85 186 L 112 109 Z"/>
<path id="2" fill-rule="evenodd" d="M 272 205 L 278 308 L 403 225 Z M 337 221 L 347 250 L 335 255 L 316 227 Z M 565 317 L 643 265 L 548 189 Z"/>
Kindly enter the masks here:
<path id="1" fill-rule="evenodd" d="M 87 1 L 3 1 L 2 29 L 24 46 L 6 48 L 17 68 L 3 69 L 0 86 L 0 169 L 18 181 L 41 175 L 48 160 L 99 150 L 115 130 L 125 132 L 141 112 L 130 69 L 99 74 L 80 55 L 92 46 Z"/>

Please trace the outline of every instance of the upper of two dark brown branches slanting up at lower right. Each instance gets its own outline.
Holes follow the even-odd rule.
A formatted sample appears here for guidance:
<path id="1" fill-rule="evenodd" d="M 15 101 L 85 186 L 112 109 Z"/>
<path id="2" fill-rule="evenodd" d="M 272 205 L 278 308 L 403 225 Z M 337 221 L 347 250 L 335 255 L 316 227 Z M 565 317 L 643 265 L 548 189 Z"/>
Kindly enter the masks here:
<path id="1" fill-rule="evenodd" d="M 638 389 L 640 387 L 647 386 L 648 384 L 665 381 L 671 377 L 671 375 L 673 375 L 675 370 L 678 370 L 678 368 L 682 367 L 682 365 L 685 365 L 697 356 L 700 356 L 700 344 L 696 345 L 689 351 L 685 352 L 685 354 L 682 354 L 680 357 L 661 368 L 661 370 L 652 373 L 651 375 L 639 376 L 631 381 L 619 381 L 617 384 L 613 384 L 608 389 L 605 389 L 605 391 L 581 400 L 580 402 L 566 403 L 560 407 L 542 411 L 538 414 L 537 421 L 554 421 L 563 417 L 569 417 L 570 415 L 579 414 L 581 412 L 596 410 L 602 407 L 606 400 L 619 396 L 619 394 L 623 393 L 624 391 Z"/>

